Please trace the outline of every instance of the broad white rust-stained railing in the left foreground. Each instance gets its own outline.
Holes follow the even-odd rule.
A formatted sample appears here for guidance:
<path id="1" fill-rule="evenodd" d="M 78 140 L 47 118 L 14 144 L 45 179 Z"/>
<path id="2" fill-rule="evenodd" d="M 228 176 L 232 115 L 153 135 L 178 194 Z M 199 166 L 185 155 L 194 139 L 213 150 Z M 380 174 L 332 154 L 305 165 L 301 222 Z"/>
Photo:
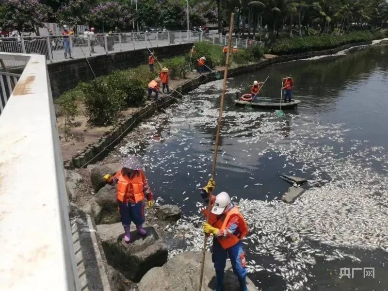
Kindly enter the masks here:
<path id="1" fill-rule="evenodd" d="M 46 59 L 0 59 L 26 63 L 0 115 L 0 290 L 79 291 Z"/>

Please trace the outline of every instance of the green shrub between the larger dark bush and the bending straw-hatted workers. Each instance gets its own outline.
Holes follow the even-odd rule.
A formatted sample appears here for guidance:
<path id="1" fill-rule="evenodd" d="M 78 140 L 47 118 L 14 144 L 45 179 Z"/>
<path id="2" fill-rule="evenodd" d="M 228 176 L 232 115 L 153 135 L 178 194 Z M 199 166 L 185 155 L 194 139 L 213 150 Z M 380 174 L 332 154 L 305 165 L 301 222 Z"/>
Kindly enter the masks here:
<path id="1" fill-rule="evenodd" d="M 122 106 L 135 105 L 144 97 L 144 83 L 131 77 L 129 70 L 113 72 L 106 78 L 106 82 L 108 87 L 124 93 L 120 98 Z"/>

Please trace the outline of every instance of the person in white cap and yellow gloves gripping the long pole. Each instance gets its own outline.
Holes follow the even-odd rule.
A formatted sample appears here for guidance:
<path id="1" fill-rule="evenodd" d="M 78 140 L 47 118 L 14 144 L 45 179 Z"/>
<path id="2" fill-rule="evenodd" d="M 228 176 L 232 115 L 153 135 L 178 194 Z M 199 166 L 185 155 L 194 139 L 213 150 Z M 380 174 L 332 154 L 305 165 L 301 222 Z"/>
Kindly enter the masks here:
<path id="1" fill-rule="evenodd" d="M 201 196 L 209 203 L 209 195 L 215 187 L 215 182 L 210 179 L 208 184 L 202 188 Z M 205 217 L 208 210 L 203 210 Z M 226 257 L 229 255 L 233 272 L 240 282 L 240 290 L 248 291 L 246 286 L 245 255 L 242 249 L 242 238 L 248 233 L 248 226 L 239 208 L 231 202 L 226 192 L 213 196 L 211 195 L 211 210 L 209 223 L 203 224 L 203 230 L 207 234 L 213 234 L 212 260 L 216 274 L 216 289 L 221 291 L 224 282 L 224 270 Z"/>

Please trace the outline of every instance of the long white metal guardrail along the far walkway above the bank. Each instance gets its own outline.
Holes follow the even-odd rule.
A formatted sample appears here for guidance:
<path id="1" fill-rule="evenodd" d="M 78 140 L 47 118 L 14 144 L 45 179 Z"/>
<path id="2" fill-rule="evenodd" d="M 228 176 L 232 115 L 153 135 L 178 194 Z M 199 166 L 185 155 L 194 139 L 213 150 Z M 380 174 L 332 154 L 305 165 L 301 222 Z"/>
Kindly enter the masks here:
<path id="1" fill-rule="evenodd" d="M 83 58 L 98 54 L 117 51 L 163 47 L 203 41 L 213 45 L 223 46 L 227 43 L 227 36 L 204 32 L 130 32 L 95 35 L 53 35 L 47 37 L 1 37 L 0 52 L 43 54 L 48 62 L 62 61 L 66 58 Z M 264 46 L 264 42 L 242 38 L 232 38 L 232 46 L 248 48 L 250 46 Z M 7 62 L 7 66 L 19 65 Z"/>

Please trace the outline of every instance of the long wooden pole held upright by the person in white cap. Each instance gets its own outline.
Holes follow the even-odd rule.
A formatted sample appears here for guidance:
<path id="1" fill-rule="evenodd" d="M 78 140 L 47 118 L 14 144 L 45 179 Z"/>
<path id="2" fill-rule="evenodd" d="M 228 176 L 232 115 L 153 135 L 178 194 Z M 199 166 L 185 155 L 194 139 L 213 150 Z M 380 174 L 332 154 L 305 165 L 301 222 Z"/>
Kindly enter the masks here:
<path id="1" fill-rule="evenodd" d="M 222 112 L 224 110 L 224 99 L 225 99 L 225 92 L 226 92 L 227 70 L 228 70 L 228 65 L 229 65 L 230 46 L 232 44 L 233 19 L 234 19 L 234 13 L 231 14 L 231 16 L 230 16 L 230 23 L 229 23 L 229 39 L 228 39 L 228 46 L 227 46 L 228 50 L 227 50 L 227 53 L 226 53 L 224 82 L 222 84 L 222 94 L 221 94 L 221 102 L 220 102 L 220 113 L 218 115 L 217 133 L 216 133 L 216 138 L 215 138 L 214 156 L 213 156 L 213 168 L 211 169 L 211 178 L 213 178 L 213 179 L 214 179 L 214 175 L 215 175 L 215 166 L 216 166 L 216 163 L 217 163 L 218 143 L 220 141 Z M 206 219 L 206 222 L 209 222 L 210 208 L 211 208 L 211 196 L 212 196 L 212 193 L 209 194 L 208 217 Z M 205 256 L 206 256 L 206 242 L 207 242 L 207 237 L 205 235 L 204 236 L 204 240 L 203 240 L 203 252 L 202 252 L 202 261 L 201 261 L 201 276 L 199 278 L 199 289 L 198 289 L 198 291 L 201 291 L 201 289 L 202 289 L 203 269 L 204 269 L 204 266 L 205 266 Z"/>

